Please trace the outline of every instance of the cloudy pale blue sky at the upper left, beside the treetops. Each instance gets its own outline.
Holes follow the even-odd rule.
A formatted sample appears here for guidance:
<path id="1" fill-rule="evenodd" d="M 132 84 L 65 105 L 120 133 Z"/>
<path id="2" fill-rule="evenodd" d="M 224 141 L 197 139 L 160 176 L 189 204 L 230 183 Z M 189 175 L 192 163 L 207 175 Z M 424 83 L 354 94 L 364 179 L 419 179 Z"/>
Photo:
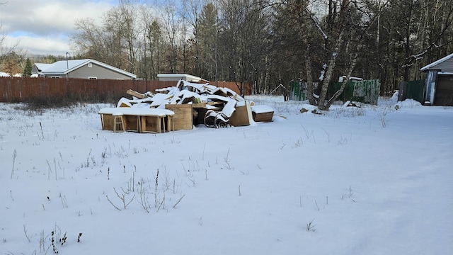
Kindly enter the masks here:
<path id="1" fill-rule="evenodd" d="M 29 55 L 66 55 L 77 18 L 99 21 L 115 0 L 0 0 L 4 47 L 19 44 Z"/>

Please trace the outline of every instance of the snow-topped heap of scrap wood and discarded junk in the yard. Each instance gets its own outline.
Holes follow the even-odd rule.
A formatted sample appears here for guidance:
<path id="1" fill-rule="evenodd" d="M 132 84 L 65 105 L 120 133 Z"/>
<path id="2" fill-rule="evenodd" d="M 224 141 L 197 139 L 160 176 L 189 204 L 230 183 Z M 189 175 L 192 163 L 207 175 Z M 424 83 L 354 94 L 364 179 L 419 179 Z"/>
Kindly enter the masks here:
<path id="1" fill-rule="evenodd" d="M 196 84 L 180 80 L 176 86 L 156 89 L 155 93 L 148 91 L 142 94 L 130 89 L 127 94 L 131 95 L 132 99 L 121 98 L 117 103 L 117 108 L 136 108 L 137 110 L 151 108 L 172 111 L 174 115 L 171 115 L 169 125 L 173 130 L 190 130 L 193 125 L 199 124 L 210 128 L 250 125 L 254 120 L 257 122 L 272 121 L 273 117 L 272 108 L 254 106 L 253 102 L 246 101 L 233 90 L 211 84 Z M 253 110 L 254 108 L 256 111 Z M 265 112 L 261 112 L 263 109 Z M 142 130 L 145 130 L 145 124 L 140 123 L 139 118 L 136 119 L 137 126 L 140 127 L 132 128 L 132 130 L 141 130 L 141 127 Z M 133 123 L 134 120 L 131 122 Z M 165 121 L 161 123 L 165 123 Z M 159 125 L 161 124 L 156 123 L 156 125 L 158 125 L 156 130 L 160 132 Z"/>

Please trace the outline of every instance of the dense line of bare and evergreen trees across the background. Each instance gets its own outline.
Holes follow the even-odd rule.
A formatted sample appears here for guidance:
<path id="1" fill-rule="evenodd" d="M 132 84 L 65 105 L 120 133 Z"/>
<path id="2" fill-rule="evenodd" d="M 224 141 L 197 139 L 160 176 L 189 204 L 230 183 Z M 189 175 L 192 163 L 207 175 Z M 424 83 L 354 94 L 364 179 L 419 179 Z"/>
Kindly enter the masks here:
<path id="1" fill-rule="evenodd" d="M 101 20 L 76 21 L 75 58 L 139 79 L 187 73 L 251 84 L 254 94 L 300 79 L 321 110 L 344 89 L 328 94 L 338 77 L 379 79 L 385 96 L 453 52 L 450 0 L 120 0 Z"/>

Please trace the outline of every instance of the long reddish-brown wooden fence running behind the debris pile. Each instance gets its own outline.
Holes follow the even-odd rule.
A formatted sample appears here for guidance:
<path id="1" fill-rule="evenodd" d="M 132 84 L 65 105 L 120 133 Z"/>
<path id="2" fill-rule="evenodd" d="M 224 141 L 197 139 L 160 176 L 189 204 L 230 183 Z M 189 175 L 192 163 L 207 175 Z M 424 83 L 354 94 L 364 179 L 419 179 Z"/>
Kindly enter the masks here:
<path id="1" fill-rule="evenodd" d="M 0 77 L 0 102 L 22 102 L 33 98 L 90 98 L 118 100 L 128 96 L 126 91 L 132 89 L 145 93 L 156 89 L 176 86 L 177 81 L 142 81 L 113 79 L 55 79 L 55 78 L 21 78 Z M 211 83 L 216 84 L 216 83 Z M 218 82 L 219 87 L 226 87 L 239 93 L 234 82 Z M 250 94 L 250 86 L 244 93 Z"/>

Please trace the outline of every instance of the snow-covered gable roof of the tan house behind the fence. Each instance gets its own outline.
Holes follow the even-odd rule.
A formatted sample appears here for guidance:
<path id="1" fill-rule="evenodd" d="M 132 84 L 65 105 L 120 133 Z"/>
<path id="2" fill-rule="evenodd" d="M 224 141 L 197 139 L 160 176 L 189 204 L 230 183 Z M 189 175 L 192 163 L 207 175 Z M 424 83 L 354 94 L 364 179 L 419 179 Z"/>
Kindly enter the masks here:
<path id="1" fill-rule="evenodd" d="M 36 68 L 41 74 L 68 74 L 69 72 L 74 71 L 75 69 L 79 69 L 83 67 L 85 64 L 93 63 L 97 64 L 105 69 L 110 69 L 113 72 L 118 72 L 120 74 L 124 74 L 131 78 L 137 78 L 135 74 L 130 72 L 126 72 L 122 69 L 112 67 L 109 64 L 105 64 L 103 62 L 99 62 L 97 60 L 85 59 L 85 60 L 60 60 L 53 64 L 42 64 L 42 63 L 35 63 Z"/>

